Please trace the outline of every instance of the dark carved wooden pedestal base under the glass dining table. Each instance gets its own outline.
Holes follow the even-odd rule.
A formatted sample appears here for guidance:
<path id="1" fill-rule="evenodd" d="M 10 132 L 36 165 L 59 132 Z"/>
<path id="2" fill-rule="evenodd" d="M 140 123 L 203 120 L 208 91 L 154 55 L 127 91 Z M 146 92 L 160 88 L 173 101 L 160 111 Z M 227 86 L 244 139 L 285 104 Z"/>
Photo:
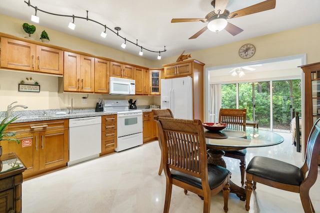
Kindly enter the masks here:
<path id="1" fill-rule="evenodd" d="M 222 159 L 222 156 L 224 156 L 224 151 L 222 150 L 207 150 L 207 154 L 209 155 L 207 159 L 208 164 L 215 164 L 221 167 L 226 168 L 225 162 Z M 236 196 L 241 200 L 245 201 L 245 191 L 243 188 L 235 185 L 231 180 L 230 183 L 230 193 L 236 194 Z"/>

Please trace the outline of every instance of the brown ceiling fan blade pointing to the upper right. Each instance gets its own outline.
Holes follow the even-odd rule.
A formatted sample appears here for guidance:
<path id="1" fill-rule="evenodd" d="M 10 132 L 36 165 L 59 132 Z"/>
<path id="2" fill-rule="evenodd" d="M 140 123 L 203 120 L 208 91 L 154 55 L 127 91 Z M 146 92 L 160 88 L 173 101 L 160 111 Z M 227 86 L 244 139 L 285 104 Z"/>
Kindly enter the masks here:
<path id="1" fill-rule="evenodd" d="M 245 7 L 243 9 L 236 10 L 231 12 L 228 18 L 236 18 L 244 15 L 253 14 L 256 12 L 262 12 L 269 9 L 274 9 L 275 0 L 265 0 L 260 3 L 254 4 L 252 6 Z"/>

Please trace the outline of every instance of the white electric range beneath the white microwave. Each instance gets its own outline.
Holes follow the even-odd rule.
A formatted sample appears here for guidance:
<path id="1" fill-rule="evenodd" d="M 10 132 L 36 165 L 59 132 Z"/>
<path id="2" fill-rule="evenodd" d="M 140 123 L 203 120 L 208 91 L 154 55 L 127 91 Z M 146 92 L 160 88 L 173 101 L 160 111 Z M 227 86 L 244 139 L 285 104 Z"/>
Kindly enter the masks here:
<path id="1" fill-rule="evenodd" d="M 127 100 L 104 100 L 104 112 L 117 114 L 117 146 L 116 152 L 139 146 L 142 137 L 142 110 L 129 110 Z"/>

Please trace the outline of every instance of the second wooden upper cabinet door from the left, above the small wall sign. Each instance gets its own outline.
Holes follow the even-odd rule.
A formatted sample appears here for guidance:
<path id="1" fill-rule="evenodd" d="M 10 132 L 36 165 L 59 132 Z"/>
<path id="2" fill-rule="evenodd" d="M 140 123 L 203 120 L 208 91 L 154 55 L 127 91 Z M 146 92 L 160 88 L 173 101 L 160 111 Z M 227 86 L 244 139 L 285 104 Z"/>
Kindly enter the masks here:
<path id="1" fill-rule="evenodd" d="M 63 51 L 36 45 L 36 71 L 63 75 Z"/>

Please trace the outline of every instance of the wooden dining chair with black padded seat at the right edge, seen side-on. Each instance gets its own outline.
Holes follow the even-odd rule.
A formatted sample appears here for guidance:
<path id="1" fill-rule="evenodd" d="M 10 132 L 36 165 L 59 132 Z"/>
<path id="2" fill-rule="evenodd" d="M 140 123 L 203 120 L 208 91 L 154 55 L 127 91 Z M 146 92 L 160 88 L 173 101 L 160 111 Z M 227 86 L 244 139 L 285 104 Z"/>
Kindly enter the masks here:
<path id="1" fill-rule="evenodd" d="M 256 183 L 261 183 L 277 189 L 299 193 L 304 213 L 314 213 L 309 190 L 317 178 L 319 151 L 320 119 L 315 122 L 310 131 L 305 160 L 300 168 L 272 158 L 253 157 L 246 169 L 245 209 L 249 211 L 252 190 L 256 189 Z"/>

